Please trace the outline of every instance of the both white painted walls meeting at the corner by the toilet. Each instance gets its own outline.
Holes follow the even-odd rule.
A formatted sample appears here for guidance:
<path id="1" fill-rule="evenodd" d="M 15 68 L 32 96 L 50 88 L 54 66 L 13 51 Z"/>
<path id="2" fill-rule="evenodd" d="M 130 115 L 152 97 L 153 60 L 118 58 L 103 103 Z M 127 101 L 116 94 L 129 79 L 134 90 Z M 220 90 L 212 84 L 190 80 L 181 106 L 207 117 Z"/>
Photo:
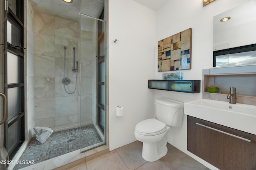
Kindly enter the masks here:
<path id="1" fill-rule="evenodd" d="M 109 0 L 110 150 L 136 140 L 136 123 L 154 116 L 154 99 L 186 102 L 202 98 L 202 93 L 148 89 L 148 79 L 162 79 L 166 73 L 157 71 L 157 42 L 192 28 L 192 69 L 182 72 L 184 79 L 202 81 L 202 69 L 212 68 L 213 16 L 247 1 L 216 0 L 203 7 L 202 0 L 169 0 L 155 13 L 133 0 Z M 119 41 L 114 43 L 114 39 Z M 116 117 L 116 105 L 124 106 L 123 117 Z M 168 142 L 214 169 L 187 151 L 186 121 L 184 116 L 182 127 L 171 128 Z"/>

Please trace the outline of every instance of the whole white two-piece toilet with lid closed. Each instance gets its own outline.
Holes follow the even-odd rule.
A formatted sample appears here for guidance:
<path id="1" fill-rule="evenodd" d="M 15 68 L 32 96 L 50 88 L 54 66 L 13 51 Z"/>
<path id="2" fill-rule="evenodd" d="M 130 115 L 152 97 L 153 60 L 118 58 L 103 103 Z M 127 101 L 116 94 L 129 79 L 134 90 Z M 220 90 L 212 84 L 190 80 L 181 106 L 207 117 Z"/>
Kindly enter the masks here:
<path id="1" fill-rule="evenodd" d="M 156 119 L 138 123 L 134 130 L 137 140 L 143 142 L 142 158 L 154 162 L 167 154 L 167 132 L 170 127 L 180 127 L 183 117 L 183 102 L 156 99 Z"/>

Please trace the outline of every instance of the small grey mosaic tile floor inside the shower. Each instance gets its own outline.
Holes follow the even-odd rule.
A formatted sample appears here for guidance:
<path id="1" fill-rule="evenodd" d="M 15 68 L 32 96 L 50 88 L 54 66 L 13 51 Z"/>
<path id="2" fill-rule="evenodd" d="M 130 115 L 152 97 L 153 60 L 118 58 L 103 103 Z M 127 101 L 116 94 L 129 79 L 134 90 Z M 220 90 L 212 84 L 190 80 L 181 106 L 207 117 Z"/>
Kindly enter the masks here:
<path id="1" fill-rule="evenodd" d="M 81 148 L 102 142 L 94 125 L 81 127 L 81 130 L 81 139 L 84 139 L 81 140 Z M 44 144 L 33 137 L 19 160 L 34 160 L 36 164 L 78 149 L 80 149 L 80 128 L 72 128 L 52 133 Z M 14 170 L 26 166 L 29 164 L 17 164 Z"/>

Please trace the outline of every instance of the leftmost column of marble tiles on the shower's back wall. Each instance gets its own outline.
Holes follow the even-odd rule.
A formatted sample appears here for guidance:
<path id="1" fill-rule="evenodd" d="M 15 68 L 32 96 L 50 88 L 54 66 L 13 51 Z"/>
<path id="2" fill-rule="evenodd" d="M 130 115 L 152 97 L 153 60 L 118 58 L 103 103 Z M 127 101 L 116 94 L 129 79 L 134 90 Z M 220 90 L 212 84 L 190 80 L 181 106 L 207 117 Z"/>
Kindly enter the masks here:
<path id="1" fill-rule="evenodd" d="M 55 18 L 34 15 L 35 126 L 55 127 Z"/>

